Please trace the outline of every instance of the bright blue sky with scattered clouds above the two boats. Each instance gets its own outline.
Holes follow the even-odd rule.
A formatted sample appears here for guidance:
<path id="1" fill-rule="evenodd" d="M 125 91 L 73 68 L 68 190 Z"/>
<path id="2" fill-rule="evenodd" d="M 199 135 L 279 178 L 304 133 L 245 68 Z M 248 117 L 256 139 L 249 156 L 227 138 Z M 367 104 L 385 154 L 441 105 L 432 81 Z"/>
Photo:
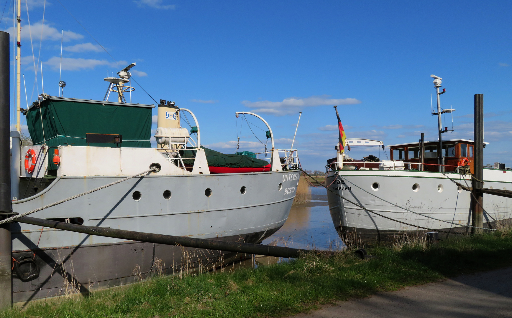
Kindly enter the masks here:
<path id="1" fill-rule="evenodd" d="M 349 138 L 390 145 L 417 141 L 424 132 L 436 140 L 437 119 L 430 115 L 435 74 L 447 91 L 442 107 L 457 109 L 455 132 L 443 138 L 473 139 L 473 95 L 484 94 L 490 142 L 484 163 L 512 164 L 510 2 L 60 2 L 123 67 L 137 63 L 133 79 L 155 100 L 194 111 L 201 141 L 213 149 L 236 151 L 235 111 L 259 113 L 272 127 L 276 146 L 289 148 L 302 111 L 295 140 L 301 163 L 323 170 L 335 155 L 333 104 Z M 47 1 L 45 10 L 44 3 L 28 0 L 45 93 L 58 92 L 63 30 L 65 97 L 101 100 L 103 77 L 121 67 L 57 0 Z M 12 0 L 0 3 L 0 10 L 4 5 L 0 28 L 11 32 Z M 22 73 L 30 103 L 42 87 L 40 73 L 34 86 L 25 3 L 22 8 Z M 132 83 L 133 102 L 155 103 Z M 264 128 L 257 119 L 249 121 Z M 451 121 L 446 115 L 444 126 Z M 266 129 L 253 130 L 264 141 Z M 240 137 L 240 150 L 264 149 L 246 124 Z M 379 155 L 370 149 L 349 154 L 370 152 Z"/>

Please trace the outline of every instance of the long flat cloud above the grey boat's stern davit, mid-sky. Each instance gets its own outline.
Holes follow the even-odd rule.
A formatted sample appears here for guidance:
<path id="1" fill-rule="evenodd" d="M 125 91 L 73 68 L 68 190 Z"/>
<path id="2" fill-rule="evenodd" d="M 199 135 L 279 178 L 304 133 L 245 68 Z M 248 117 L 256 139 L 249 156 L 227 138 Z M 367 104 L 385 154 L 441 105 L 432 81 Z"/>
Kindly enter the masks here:
<path id="1" fill-rule="evenodd" d="M 351 105 L 359 104 L 360 100 L 355 98 L 339 98 L 330 99 L 330 96 L 311 96 L 308 98 L 290 97 L 284 99 L 282 102 L 259 101 L 250 102 L 243 101 L 242 104 L 249 108 L 255 108 L 255 112 L 268 113 L 275 116 L 295 115 L 304 107 L 323 106 L 323 105 Z"/>

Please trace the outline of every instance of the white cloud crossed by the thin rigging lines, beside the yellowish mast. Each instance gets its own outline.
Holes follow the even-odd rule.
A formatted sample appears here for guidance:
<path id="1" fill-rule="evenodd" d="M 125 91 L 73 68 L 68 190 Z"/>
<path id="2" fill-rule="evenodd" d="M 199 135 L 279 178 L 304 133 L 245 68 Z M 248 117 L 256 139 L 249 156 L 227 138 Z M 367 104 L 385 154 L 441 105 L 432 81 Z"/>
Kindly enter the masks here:
<path id="1" fill-rule="evenodd" d="M 50 27 L 48 25 L 48 21 L 45 22 L 45 25 L 42 25 L 41 22 L 36 22 L 32 26 L 24 25 L 22 28 L 22 39 L 25 45 L 30 46 L 30 33 L 32 33 L 32 42 L 35 44 L 39 44 L 39 40 L 41 39 L 41 30 L 42 30 L 42 39 L 43 40 L 52 40 L 52 41 L 60 41 L 60 30 L 55 29 L 54 27 Z M 10 27 L 6 31 L 11 35 L 11 40 L 14 41 L 16 38 L 16 28 Z M 82 39 L 83 35 L 75 33 L 73 31 L 63 31 L 62 32 L 62 40 L 64 42 L 68 42 L 71 40 Z"/>

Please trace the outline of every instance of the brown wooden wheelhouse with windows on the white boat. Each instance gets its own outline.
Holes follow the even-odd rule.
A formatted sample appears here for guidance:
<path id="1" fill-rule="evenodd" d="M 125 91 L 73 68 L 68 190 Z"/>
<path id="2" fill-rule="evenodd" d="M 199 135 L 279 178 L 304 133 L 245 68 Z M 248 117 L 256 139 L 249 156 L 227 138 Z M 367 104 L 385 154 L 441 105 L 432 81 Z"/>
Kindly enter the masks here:
<path id="1" fill-rule="evenodd" d="M 471 173 L 474 171 L 474 145 L 475 142 L 467 139 L 450 139 L 443 140 L 442 155 L 444 157 L 444 171 L 452 172 L 457 169 L 459 163 L 463 158 L 467 158 L 470 162 Z M 438 168 L 438 151 L 439 141 L 428 141 L 423 142 L 425 148 L 425 154 L 423 163 L 424 171 L 439 171 Z M 487 145 L 489 143 L 484 143 Z M 399 144 L 388 146 L 390 149 L 391 160 L 403 161 L 406 163 L 420 163 L 420 144 Z M 417 165 L 412 165 L 411 168 L 416 168 Z"/>

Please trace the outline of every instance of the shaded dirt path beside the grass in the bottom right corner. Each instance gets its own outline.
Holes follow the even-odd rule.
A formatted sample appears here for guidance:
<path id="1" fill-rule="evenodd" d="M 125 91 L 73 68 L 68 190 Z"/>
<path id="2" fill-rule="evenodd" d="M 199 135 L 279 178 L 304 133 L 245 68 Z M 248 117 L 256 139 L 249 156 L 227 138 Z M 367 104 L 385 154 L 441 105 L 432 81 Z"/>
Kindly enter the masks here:
<path id="1" fill-rule="evenodd" d="M 294 317 L 512 317 L 512 267 L 338 302 Z"/>

